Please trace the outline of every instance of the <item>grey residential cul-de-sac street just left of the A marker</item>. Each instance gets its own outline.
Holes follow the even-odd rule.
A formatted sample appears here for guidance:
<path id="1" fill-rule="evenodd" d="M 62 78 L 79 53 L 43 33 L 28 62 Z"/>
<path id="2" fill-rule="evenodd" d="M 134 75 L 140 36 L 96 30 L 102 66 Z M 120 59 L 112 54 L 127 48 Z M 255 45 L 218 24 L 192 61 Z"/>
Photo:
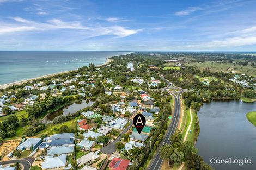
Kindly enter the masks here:
<path id="1" fill-rule="evenodd" d="M 126 127 L 122 132 L 121 134 L 125 134 L 132 126 L 132 119 L 130 118 L 127 118 L 127 117 L 122 117 L 122 118 L 125 118 L 127 119 L 127 121 L 129 121 L 129 126 Z M 117 143 L 118 141 L 120 141 L 122 135 L 119 135 L 113 142 L 107 144 L 106 146 L 103 146 L 101 149 L 100 149 L 100 152 L 104 153 L 104 154 L 112 154 L 115 152 L 115 150 L 117 150 L 117 148 L 115 148 L 115 143 Z"/>

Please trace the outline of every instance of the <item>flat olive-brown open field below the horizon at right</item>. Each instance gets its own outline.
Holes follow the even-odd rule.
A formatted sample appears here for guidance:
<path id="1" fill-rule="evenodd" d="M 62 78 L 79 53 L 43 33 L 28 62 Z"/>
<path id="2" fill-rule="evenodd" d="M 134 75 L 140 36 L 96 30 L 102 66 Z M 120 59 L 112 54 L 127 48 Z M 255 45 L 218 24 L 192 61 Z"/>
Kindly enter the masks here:
<path id="1" fill-rule="evenodd" d="M 202 71 L 205 68 L 210 68 L 210 72 L 237 72 L 242 74 L 254 75 L 256 74 L 256 67 L 251 65 L 242 66 L 234 63 L 227 63 L 227 62 L 213 62 L 213 61 L 206 61 L 206 62 L 185 62 L 185 66 L 197 66 Z M 228 68 L 231 68 L 228 70 Z"/>

